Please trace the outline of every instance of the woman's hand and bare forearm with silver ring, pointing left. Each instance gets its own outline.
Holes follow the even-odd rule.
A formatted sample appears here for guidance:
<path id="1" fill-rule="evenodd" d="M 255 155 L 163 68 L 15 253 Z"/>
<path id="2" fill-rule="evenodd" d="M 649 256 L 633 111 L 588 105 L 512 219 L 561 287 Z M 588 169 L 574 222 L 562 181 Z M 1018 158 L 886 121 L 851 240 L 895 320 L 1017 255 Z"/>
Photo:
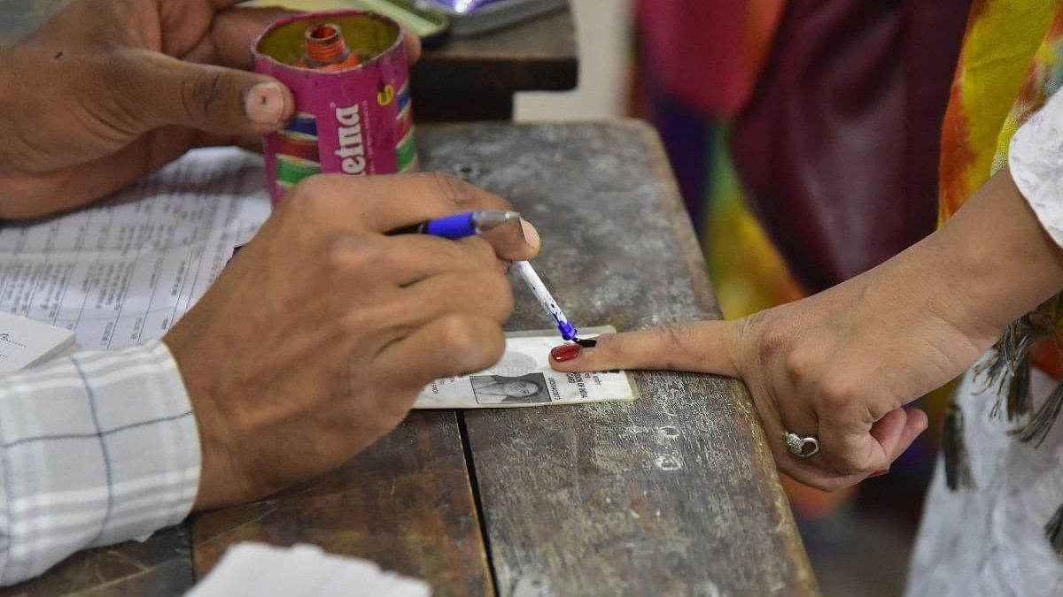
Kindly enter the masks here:
<path id="1" fill-rule="evenodd" d="M 1063 252 L 1008 171 L 939 233 L 814 296 L 735 321 L 602 336 L 560 371 L 671 369 L 743 379 L 779 468 L 831 490 L 889 468 L 927 426 L 904 405 L 959 374 L 1063 287 Z M 784 433 L 817 436 L 792 454 Z"/>

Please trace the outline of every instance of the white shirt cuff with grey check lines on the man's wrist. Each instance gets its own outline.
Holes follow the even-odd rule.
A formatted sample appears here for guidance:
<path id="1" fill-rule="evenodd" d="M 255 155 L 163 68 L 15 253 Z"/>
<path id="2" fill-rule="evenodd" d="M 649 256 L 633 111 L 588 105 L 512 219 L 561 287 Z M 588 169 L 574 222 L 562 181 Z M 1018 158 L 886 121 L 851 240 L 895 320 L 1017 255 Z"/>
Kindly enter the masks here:
<path id="1" fill-rule="evenodd" d="M 0 377 L 0 584 L 188 515 L 200 446 L 161 341 Z"/>

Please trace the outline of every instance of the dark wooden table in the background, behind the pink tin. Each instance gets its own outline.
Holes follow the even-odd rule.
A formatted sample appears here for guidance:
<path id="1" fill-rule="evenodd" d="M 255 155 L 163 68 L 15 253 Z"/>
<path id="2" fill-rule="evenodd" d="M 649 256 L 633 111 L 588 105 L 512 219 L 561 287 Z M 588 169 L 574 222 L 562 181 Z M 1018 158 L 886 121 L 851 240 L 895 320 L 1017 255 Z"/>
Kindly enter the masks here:
<path id="1" fill-rule="evenodd" d="M 69 0 L 0 2 L 0 46 L 21 37 Z M 9 4 L 10 2 L 10 4 Z M 292 7 L 339 1 L 274 0 Z M 569 7 L 475 37 L 450 37 L 426 48 L 410 86 L 419 122 L 511 120 L 518 91 L 563 91 L 579 70 Z"/>

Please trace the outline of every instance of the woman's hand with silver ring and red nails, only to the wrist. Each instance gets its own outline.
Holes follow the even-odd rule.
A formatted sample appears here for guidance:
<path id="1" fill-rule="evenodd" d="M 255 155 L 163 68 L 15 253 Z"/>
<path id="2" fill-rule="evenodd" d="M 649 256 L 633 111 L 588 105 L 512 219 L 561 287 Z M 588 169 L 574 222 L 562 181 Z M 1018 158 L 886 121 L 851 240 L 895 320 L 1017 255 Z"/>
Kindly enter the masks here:
<path id="1" fill-rule="evenodd" d="M 560 371 L 670 369 L 743 379 L 780 471 L 833 490 L 889 468 L 926 429 L 900 408 L 962 371 L 989 346 L 880 276 L 735 321 L 674 324 L 597 338 Z M 913 301 L 913 298 L 916 298 Z M 817 436 L 790 453 L 783 436 Z"/>

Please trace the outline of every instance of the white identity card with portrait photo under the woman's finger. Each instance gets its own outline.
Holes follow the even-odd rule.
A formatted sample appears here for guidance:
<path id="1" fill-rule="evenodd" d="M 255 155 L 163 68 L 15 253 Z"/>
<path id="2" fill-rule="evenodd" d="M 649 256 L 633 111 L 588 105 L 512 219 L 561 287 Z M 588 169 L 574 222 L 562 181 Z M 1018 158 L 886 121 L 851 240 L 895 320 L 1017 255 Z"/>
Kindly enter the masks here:
<path id="1" fill-rule="evenodd" d="M 593 338 L 611 326 L 581 330 Z M 436 379 L 421 390 L 414 408 L 519 408 L 579 403 L 630 402 L 637 386 L 625 371 L 561 373 L 550 366 L 556 329 L 506 334 L 506 349 L 493 366 L 470 375 Z"/>

